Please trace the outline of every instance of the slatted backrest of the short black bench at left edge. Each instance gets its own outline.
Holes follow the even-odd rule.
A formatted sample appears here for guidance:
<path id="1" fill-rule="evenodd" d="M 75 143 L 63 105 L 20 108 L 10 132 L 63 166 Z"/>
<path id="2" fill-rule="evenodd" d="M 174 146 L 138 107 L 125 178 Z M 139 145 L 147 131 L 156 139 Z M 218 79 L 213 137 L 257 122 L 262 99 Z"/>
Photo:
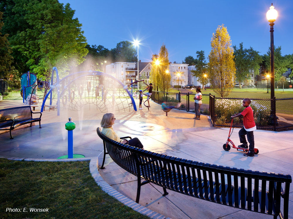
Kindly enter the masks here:
<path id="1" fill-rule="evenodd" d="M 13 119 L 14 121 L 21 121 L 32 118 L 32 109 L 30 106 L 13 107 L 7 109 L 0 109 L 0 121 L 6 119 Z"/>

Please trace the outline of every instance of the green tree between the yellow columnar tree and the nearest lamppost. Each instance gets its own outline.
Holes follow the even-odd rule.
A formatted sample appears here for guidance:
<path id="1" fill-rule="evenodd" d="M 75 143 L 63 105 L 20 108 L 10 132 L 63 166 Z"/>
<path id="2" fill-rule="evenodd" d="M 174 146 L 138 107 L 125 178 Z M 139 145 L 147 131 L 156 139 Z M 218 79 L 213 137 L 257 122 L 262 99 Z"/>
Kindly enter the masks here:
<path id="1" fill-rule="evenodd" d="M 235 56 L 236 79 L 239 83 L 239 88 L 241 89 L 241 81 L 250 78 L 251 71 L 253 71 L 255 75 L 259 75 L 260 63 L 263 62 L 263 59 L 258 54 L 259 51 L 253 50 L 252 47 L 249 49 L 243 49 L 243 42 L 239 44 L 239 48 L 234 45 L 233 49 L 233 55 Z"/>

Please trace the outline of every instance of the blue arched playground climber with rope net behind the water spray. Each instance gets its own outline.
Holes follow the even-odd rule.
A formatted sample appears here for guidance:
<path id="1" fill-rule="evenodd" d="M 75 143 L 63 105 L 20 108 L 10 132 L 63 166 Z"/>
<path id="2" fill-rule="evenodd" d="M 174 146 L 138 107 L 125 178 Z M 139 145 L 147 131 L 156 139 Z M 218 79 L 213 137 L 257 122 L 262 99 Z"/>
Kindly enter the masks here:
<path id="1" fill-rule="evenodd" d="M 54 78 L 56 76 L 56 78 Z M 133 106 L 137 111 L 134 99 L 127 86 L 115 77 L 97 71 L 75 72 L 59 79 L 58 70 L 53 67 L 50 84 L 48 81 L 40 81 L 45 89 L 41 112 L 45 106 L 60 109 L 81 110 L 84 106 L 91 106 L 101 112 L 125 111 Z M 35 85 L 37 87 L 37 85 Z M 50 95 L 50 97 L 49 97 Z M 46 103 L 49 98 L 49 102 Z M 131 105 L 132 103 L 132 105 Z"/>

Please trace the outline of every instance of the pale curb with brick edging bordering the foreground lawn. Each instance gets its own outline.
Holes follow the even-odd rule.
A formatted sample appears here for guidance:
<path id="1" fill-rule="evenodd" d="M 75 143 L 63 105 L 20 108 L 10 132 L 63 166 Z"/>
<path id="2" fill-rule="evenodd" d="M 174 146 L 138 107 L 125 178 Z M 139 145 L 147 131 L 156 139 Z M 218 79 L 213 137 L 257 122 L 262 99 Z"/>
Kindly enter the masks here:
<path id="1" fill-rule="evenodd" d="M 6 158 L 6 157 L 0 157 Z M 50 161 L 50 162 L 69 162 L 69 161 L 90 161 L 89 169 L 92 177 L 96 181 L 97 185 L 99 185 L 104 192 L 108 195 L 113 196 L 115 199 L 120 201 L 122 204 L 132 208 L 134 211 L 137 211 L 143 215 L 148 216 L 152 219 L 172 219 L 166 218 L 164 215 L 157 213 L 155 211 L 150 210 L 140 204 L 137 204 L 135 201 L 127 198 L 126 196 L 122 195 L 120 192 L 113 189 L 100 175 L 98 171 L 98 157 L 85 157 L 85 158 L 71 158 L 71 159 L 39 159 L 39 158 L 17 158 L 11 157 L 6 158 L 8 160 L 16 160 L 16 161 Z"/>

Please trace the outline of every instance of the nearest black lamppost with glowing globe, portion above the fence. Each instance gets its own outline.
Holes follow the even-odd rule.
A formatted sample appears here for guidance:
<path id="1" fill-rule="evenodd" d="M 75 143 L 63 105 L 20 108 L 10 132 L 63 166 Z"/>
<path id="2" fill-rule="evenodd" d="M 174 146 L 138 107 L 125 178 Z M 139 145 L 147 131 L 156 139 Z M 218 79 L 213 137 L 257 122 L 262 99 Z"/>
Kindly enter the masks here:
<path id="1" fill-rule="evenodd" d="M 278 12 L 275 7 L 270 6 L 270 10 L 267 12 L 267 19 L 270 22 L 270 35 L 271 35 L 271 99 L 275 96 L 275 69 L 274 69 L 274 21 L 278 16 Z"/>

